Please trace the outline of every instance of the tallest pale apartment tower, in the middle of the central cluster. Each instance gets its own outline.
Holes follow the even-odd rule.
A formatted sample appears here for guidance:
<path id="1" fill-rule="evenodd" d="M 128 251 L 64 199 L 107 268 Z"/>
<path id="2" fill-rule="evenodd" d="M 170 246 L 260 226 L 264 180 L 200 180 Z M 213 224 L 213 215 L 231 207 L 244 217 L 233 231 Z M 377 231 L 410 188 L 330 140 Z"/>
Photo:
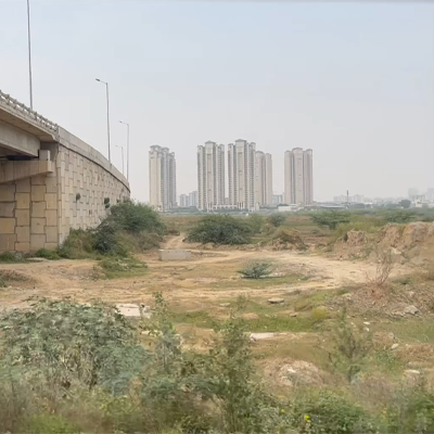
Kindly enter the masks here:
<path id="1" fill-rule="evenodd" d="M 229 205 L 255 209 L 256 144 L 237 140 L 228 145 Z"/>

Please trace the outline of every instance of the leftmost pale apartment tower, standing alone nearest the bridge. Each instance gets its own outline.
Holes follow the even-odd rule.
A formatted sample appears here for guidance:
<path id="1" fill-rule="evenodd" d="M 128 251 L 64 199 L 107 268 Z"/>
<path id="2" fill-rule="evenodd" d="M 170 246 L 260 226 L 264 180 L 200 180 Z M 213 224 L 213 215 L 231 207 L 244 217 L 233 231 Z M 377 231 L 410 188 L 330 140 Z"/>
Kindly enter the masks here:
<path id="1" fill-rule="evenodd" d="M 149 152 L 150 204 L 156 210 L 177 206 L 176 159 L 168 148 L 153 145 Z"/>

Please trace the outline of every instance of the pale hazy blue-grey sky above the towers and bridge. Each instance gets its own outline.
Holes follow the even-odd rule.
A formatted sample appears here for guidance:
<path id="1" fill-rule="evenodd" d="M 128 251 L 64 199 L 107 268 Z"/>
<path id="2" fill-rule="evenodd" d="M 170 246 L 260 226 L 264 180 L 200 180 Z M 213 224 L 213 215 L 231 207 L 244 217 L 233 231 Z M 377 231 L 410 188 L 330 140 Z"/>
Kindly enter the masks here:
<path id="1" fill-rule="evenodd" d="M 196 145 L 242 138 L 314 150 L 315 199 L 434 187 L 434 4 L 30 0 L 34 107 L 120 168 L 148 200 L 151 144 L 196 189 Z M 365 3 L 365 4 L 363 4 Z M 28 103 L 26 0 L 0 0 L 0 89 Z"/>

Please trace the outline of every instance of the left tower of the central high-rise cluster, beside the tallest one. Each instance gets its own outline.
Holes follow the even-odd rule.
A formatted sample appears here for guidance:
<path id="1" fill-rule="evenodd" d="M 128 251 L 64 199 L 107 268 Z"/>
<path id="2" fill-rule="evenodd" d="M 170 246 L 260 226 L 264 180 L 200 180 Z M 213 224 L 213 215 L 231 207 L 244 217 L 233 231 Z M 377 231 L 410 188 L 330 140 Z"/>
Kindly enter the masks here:
<path id="1" fill-rule="evenodd" d="M 207 141 L 197 146 L 197 208 L 225 205 L 225 145 Z"/>

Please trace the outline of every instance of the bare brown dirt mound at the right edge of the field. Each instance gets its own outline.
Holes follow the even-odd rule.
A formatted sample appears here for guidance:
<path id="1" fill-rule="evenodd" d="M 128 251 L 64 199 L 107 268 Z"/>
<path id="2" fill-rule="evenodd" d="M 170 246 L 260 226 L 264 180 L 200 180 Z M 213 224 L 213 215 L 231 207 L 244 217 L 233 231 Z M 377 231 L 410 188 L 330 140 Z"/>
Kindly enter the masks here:
<path id="1" fill-rule="evenodd" d="M 416 265 L 434 264 L 434 222 L 417 221 L 407 226 L 387 225 L 378 235 L 381 247 L 393 247 L 395 255 Z"/>

